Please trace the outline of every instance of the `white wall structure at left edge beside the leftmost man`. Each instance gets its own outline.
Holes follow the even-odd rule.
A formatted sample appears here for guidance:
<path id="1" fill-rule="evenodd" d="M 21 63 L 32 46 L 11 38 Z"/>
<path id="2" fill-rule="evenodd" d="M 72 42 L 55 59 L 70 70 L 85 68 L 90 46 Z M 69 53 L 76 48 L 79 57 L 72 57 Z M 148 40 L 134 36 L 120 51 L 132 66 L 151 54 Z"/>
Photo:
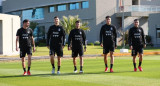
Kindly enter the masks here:
<path id="1" fill-rule="evenodd" d="M 20 28 L 19 16 L 0 14 L 2 21 L 2 53 L 3 55 L 18 54 L 15 50 L 16 32 Z"/>

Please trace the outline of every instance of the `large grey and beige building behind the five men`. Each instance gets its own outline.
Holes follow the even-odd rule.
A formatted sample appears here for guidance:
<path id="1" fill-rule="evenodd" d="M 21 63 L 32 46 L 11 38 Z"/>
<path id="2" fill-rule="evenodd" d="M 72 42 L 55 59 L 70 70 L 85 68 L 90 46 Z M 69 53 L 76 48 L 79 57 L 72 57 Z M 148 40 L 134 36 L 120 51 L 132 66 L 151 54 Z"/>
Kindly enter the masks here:
<path id="1" fill-rule="evenodd" d="M 150 14 L 160 12 L 159 0 L 6 0 L 3 1 L 3 13 L 19 15 L 21 20 L 30 19 L 39 23 L 39 27 L 48 31 L 53 24 L 53 17 L 75 16 L 88 21 L 91 30 L 87 33 L 88 42 L 99 40 L 99 31 L 105 24 L 105 17 L 112 17 L 112 24 L 122 30 L 124 8 L 124 30 L 133 26 L 135 18 L 148 35 L 148 18 Z M 17 3 L 13 3 L 17 2 Z M 25 3 L 25 4 L 22 4 Z M 120 37 L 120 34 L 119 38 Z M 45 36 L 45 34 L 43 34 Z M 119 40 L 119 39 L 118 39 Z"/>

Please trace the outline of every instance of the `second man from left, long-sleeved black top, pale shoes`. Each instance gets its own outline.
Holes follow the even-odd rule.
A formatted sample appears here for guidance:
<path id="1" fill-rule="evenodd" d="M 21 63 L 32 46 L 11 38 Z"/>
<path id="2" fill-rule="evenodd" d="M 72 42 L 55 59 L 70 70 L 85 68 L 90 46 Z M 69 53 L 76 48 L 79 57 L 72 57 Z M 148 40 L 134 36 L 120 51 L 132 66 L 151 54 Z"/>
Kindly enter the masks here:
<path id="1" fill-rule="evenodd" d="M 50 26 L 47 33 L 47 47 L 50 49 L 50 62 L 52 65 L 52 74 L 55 74 L 54 57 L 57 54 L 58 70 L 57 74 L 60 74 L 61 57 L 63 57 L 63 48 L 65 46 L 65 31 L 62 26 L 59 25 L 59 18 L 54 17 L 54 25 Z"/>

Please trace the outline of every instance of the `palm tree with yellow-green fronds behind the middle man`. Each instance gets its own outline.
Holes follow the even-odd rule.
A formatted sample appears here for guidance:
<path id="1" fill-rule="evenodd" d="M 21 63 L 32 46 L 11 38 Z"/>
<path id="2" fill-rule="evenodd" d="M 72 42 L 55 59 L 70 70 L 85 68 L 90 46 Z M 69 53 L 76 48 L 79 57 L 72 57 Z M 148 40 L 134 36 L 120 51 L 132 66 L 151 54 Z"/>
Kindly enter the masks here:
<path id="1" fill-rule="evenodd" d="M 63 20 L 60 21 L 61 25 L 63 26 L 63 28 L 65 29 L 65 32 L 67 34 L 70 33 L 70 31 L 72 29 L 75 28 L 75 22 L 79 20 L 82 22 L 81 19 L 79 19 L 79 16 L 63 16 Z M 89 31 L 90 30 L 90 27 L 88 27 L 88 22 L 82 22 L 81 23 L 81 27 L 80 27 L 82 30 L 85 30 L 85 31 Z"/>

